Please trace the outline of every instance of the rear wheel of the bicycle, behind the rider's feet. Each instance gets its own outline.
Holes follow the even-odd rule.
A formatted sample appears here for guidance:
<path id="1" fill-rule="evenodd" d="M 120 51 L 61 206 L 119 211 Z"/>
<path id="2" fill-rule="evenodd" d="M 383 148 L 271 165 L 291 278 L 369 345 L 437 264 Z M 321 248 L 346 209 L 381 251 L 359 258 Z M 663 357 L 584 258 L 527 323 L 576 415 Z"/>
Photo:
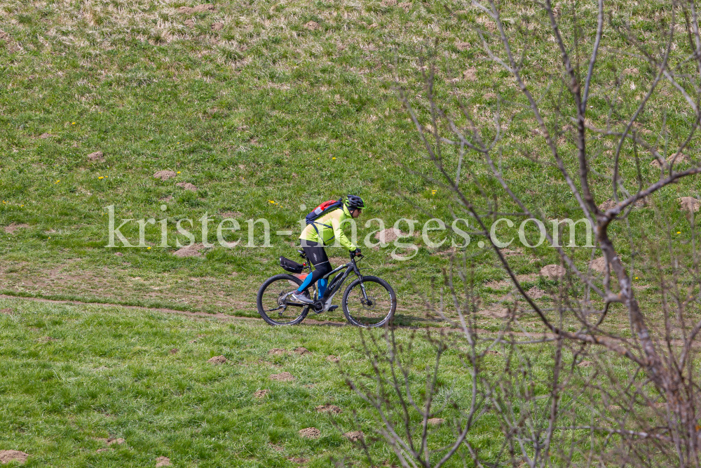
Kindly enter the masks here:
<path id="1" fill-rule="evenodd" d="M 287 295 L 299 288 L 301 279 L 291 274 L 276 274 L 266 279 L 258 290 L 258 313 L 271 325 L 296 325 L 309 312 L 308 305 L 288 300 Z M 304 295 L 314 295 L 313 287 L 304 290 Z"/>

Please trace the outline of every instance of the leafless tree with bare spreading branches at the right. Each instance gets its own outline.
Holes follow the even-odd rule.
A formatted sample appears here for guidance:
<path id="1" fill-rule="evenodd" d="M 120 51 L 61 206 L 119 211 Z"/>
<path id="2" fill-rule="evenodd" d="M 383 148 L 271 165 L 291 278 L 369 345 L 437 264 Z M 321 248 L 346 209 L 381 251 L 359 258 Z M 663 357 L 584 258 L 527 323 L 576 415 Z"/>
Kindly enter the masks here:
<path id="1" fill-rule="evenodd" d="M 557 5 L 545 0 L 519 11 L 484 0 L 473 1 L 472 8 L 483 62 L 508 73 L 501 83 L 507 91 L 496 95 L 486 119 L 461 98 L 463 91 L 450 79 L 451 60 L 444 66 L 437 60 L 422 62 L 423 95 L 416 98 L 400 89 L 400 100 L 433 170 L 408 169 L 449 193 L 454 218 L 474 220 L 476 234 L 484 236 L 519 298 L 503 332 L 485 343 L 471 319 L 479 301 L 468 287 L 472 254 L 456 255 L 445 270 L 451 300 L 435 312 L 454 321 L 471 349 L 465 366 L 475 375 L 475 393 L 469 405 L 456 403 L 461 415 L 456 445 L 442 448 L 439 457 L 426 442 L 435 388 L 427 384 L 421 403 L 411 399 L 409 375 L 397 361 L 391 335 L 384 361 L 388 367 L 374 357 L 374 391 L 354 388 L 381 415 L 380 433 L 407 467 L 438 467 L 461 450 L 477 466 L 699 467 L 701 275 L 693 213 L 701 203 L 682 199 L 689 208 L 685 241 L 679 236 L 679 217 L 669 210 L 679 182 L 701 172 L 692 156 L 701 121 L 701 33 L 695 3 L 648 5 L 646 18 L 624 11 L 632 5 L 608 6 L 603 0 Z M 503 8 L 511 8 L 507 19 Z M 545 52 L 537 57 L 533 48 Z M 622 63 L 631 66 L 622 69 Z M 470 79 L 474 75 L 474 70 L 466 74 Z M 513 84 L 515 97 L 508 93 Z M 523 122 L 533 123 L 526 144 L 522 133 L 513 131 Z M 508 155 L 519 153 L 544 170 L 557 171 L 557 183 L 573 200 L 571 209 L 593 227 L 589 260 L 602 255 L 604 269 L 597 276 L 592 263 L 583 260 L 582 249 L 560 246 L 545 232 L 566 270 L 548 291 L 552 307 L 529 294 L 502 244 L 490 234 L 492 222 L 505 215 L 502 206 L 517 207 L 517 213 L 510 213 L 514 217 L 543 224 L 557 215 L 541 209 L 512 182 Z M 496 182 L 498 189 L 487 187 L 478 175 Z M 648 206 L 646 215 L 635 214 L 641 203 Z M 638 276 L 648 280 L 645 287 L 636 283 Z M 524 338 L 519 331 L 529 314 L 543 333 L 538 339 Z M 545 399 L 533 392 L 536 374 L 527 357 L 527 347 L 536 342 L 548 343 L 552 350 Z M 436 368 L 442 346 L 449 345 L 437 345 Z M 496 345 L 509 356 L 505 368 L 495 378 L 482 378 L 479 356 L 484 354 L 479 350 Z M 395 398 L 388 397 L 392 392 Z M 401 412 L 399 419 L 389 417 L 388 404 L 403 408 L 404 419 Z M 420 429 L 409 423 L 407 408 L 421 415 Z M 470 424 L 484 412 L 501 420 L 508 456 L 486 460 L 470 442 Z M 400 420 L 404 432 L 393 422 Z"/>

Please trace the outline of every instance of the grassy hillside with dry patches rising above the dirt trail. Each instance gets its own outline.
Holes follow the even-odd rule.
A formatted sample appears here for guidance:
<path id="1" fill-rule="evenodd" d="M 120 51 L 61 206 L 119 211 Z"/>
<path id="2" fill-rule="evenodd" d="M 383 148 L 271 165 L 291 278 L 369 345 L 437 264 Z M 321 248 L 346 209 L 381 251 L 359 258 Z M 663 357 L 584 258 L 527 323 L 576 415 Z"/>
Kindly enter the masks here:
<path id="1" fill-rule="evenodd" d="M 217 1 L 184 12 L 181 7 L 195 6 L 185 3 L 0 5 L 4 292 L 254 316 L 257 287 L 266 276 L 280 272 L 278 255 L 294 258 L 299 220 L 321 201 L 347 192 L 360 194 L 370 206 L 361 221 L 382 218 L 388 227 L 400 218 L 424 222 L 430 218 L 424 211 L 450 220 L 456 204 L 447 192 L 406 170 L 435 175 L 393 89 L 398 79 L 411 92 L 418 112 L 426 114 L 418 62 L 422 55 L 437 58 L 440 65 L 440 99 L 451 105 L 451 95 L 463 98 L 480 122 L 490 121 L 489 111 L 496 109 L 496 96 L 500 97 L 502 112 L 510 113 L 511 119 L 503 147 L 506 175 L 526 200 L 549 218 L 580 217 L 557 169 L 538 159 L 543 142 L 534 136 L 532 119 L 519 114 L 522 98 L 508 74 L 484 60 L 478 47 L 472 27 L 494 30 L 494 24 L 469 4 Z M 551 83 L 550 63 L 558 60 L 558 53 L 547 40 L 547 28 L 536 22 L 543 18 L 518 4 L 504 8 L 508 27 L 515 27 L 514 18 L 533 21 L 529 30 L 535 40 L 522 44 L 530 52 L 524 57 L 527 78 L 536 91 L 545 93 Z M 589 6 L 578 8 L 589 18 Z M 650 36 L 649 18 L 664 13 L 664 8 L 630 8 L 620 14 L 632 15 L 633 27 L 641 36 Z M 593 15 L 591 20 L 594 24 Z M 519 37 L 519 30 L 512 32 Z M 609 34 L 607 41 L 597 74 L 601 91 L 590 109 L 592 121 L 601 125 L 608 116 L 602 97 L 606 87 L 618 76 L 627 80 L 618 95 L 621 114 L 613 116 L 620 123 L 623 111 L 633 109 L 640 98 L 635 83 L 652 73 L 641 60 L 622 58 L 616 49 L 625 45 L 620 37 Z M 463 75 L 465 69 L 471 73 Z M 451 79 L 454 88 L 447 84 Z M 682 135 L 688 122 L 683 110 L 674 107 L 676 98 L 659 98 L 644 119 L 651 128 L 661 128 L 664 114 L 665 131 Z M 562 122 L 549 125 L 559 128 Z M 559 144 L 566 163 L 576 163 L 573 142 L 563 137 Z M 695 145 L 693 140 L 691 147 Z M 597 155 L 594 168 L 610 173 L 611 142 L 601 139 L 591 148 Z M 95 152 L 102 156 L 88 157 Z M 632 149 L 625 153 L 623 174 L 636 180 Z M 445 161 L 454 169 L 451 154 L 447 150 Z M 501 197 L 478 160 L 470 155 L 468 171 L 463 171 L 468 194 L 479 194 L 477 188 L 467 188 L 477 181 Z M 642 176 L 653 180 L 658 171 L 648 162 L 643 161 Z M 153 177 L 165 170 L 177 176 L 166 181 Z M 178 183 L 192 184 L 196 192 Z M 594 189 L 597 200 L 611 196 L 606 180 L 594 180 Z M 682 182 L 657 199 L 658 206 L 672 213 L 671 232 L 680 232 L 684 239 L 689 232 L 686 220 L 671 208 L 677 196 L 695 190 L 695 182 Z M 111 205 L 117 218 L 167 216 L 168 247 L 160 246 L 161 227 L 156 223 L 145 228 L 147 247 L 104 248 L 106 207 Z M 514 209 L 509 202 L 501 208 Z M 172 255 L 176 222 L 189 218 L 198 225 L 205 213 L 215 220 L 210 229 L 232 216 L 243 234 L 245 220 L 266 218 L 273 232 L 271 247 L 215 246 L 196 258 Z M 634 234 L 613 228 L 624 253 L 629 253 L 630 235 L 656 229 L 652 210 L 632 216 L 640 226 Z M 278 236 L 276 230 L 293 234 Z M 136 222 L 122 231 L 136 243 Z M 193 232 L 199 238 L 197 227 Z M 361 224 L 359 239 L 368 232 Z M 210 230 L 210 240 L 213 236 Z M 178 239 L 186 242 L 183 236 Z M 238 239 L 238 234 L 228 239 Z M 257 232 L 258 246 L 262 240 Z M 474 240 L 468 252 L 477 285 L 484 291 L 484 307 L 503 297 L 508 284 L 500 283 L 504 276 L 494 256 L 477 248 Z M 415 288 L 439 300 L 433 286 L 442 281 L 449 244 L 437 249 L 421 246 L 409 262 L 393 260 L 393 246 L 366 249 L 366 266 L 395 286 L 401 319 L 423 317 Z M 552 248 L 513 253 L 517 255 L 510 259 L 526 287 L 545 288 L 548 283 L 535 274 L 554 260 Z M 346 254 L 336 249 L 331 255 L 337 264 Z M 585 249 L 573 255 L 582 263 L 591 258 Z M 485 283 L 492 287 L 482 286 Z"/>

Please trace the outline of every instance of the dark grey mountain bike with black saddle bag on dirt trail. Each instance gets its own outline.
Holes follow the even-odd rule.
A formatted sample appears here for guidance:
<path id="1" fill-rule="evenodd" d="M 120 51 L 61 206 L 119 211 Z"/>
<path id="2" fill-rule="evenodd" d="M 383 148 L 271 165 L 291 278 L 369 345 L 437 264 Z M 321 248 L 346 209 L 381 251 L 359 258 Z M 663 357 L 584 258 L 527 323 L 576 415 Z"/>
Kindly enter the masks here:
<path id="1" fill-rule="evenodd" d="M 297 250 L 304 264 L 280 257 L 280 266 L 287 272 L 301 274 L 305 267 L 312 273 L 311 262 L 304 250 Z M 379 327 L 392 320 L 397 309 L 397 296 L 387 281 L 377 276 L 363 276 L 358 268 L 362 255 L 351 253 L 351 260 L 337 267 L 327 275 L 329 281 L 323 297 L 318 296 L 315 284 L 304 290 L 304 295 L 314 301 L 312 305 L 302 304 L 292 299 L 291 294 L 299 288 L 302 279 L 293 274 L 276 274 L 266 279 L 258 290 L 258 313 L 271 325 L 296 325 L 305 319 L 309 312 L 321 314 L 337 309 L 332 305 L 336 293 L 343 283 L 355 274 L 356 278 L 343 292 L 341 307 L 348 323 L 360 327 Z"/>

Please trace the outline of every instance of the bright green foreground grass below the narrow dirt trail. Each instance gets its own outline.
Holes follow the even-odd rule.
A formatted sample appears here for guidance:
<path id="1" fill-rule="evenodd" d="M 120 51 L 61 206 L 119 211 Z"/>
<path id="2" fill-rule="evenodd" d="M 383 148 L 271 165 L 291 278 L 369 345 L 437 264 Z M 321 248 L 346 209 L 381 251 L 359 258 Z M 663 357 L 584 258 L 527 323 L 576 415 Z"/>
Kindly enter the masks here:
<path id="1" fill-rule="evenodd" d="M 7 307 L 13 314 L 0 314 L 0 424 L 7 428 L 0 450 L 29 453 L 27 467 L 149 467 L 159 456 L 176 467 L 298 466 L 292 457 L 310 460 L 309 467 L 343 457 L 367 466 L 360 447 L 342 436 L 358 429 L 376 460 L 393 460 L 373 434 L 373 413 L 345 382 L 346 375 L 367 382 L 361 374 L 370 371 L 353 328 L 271 333 L 248 321 L 0 299 L 0 310 Z M 410 333 L 398 337 L 407 341 Z M 268 354 L 297 347 L 311 354 Z M 327 361 L 331 354 L 338 365 Z M 412 380 L 421 387 L 433 347 L 419 338 L 411 354 Z M 469 375 L 450 354 L 442 385 L 464 388 Z M 227 362 L 207 363 L 219 355 Z M 282 372 L 296 380 L 270 380 Z M 270 393 L 257 399 L 261 389 Z M 343 412 L 315 410 L 325 404 Z M 301 439 L 306 427 L 320 429 L 320 439 Z M 498 446 L 486 438 L 494 429 L 485 420 L 475 437 L 485 453 Z M 125 443 L 98 453 L 106 445 L 97 439 L 109 437 Z M 442 444 L 450 437 L 444 427 L 431 439 Z"/>

